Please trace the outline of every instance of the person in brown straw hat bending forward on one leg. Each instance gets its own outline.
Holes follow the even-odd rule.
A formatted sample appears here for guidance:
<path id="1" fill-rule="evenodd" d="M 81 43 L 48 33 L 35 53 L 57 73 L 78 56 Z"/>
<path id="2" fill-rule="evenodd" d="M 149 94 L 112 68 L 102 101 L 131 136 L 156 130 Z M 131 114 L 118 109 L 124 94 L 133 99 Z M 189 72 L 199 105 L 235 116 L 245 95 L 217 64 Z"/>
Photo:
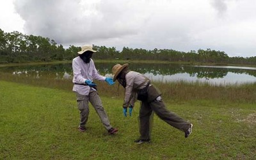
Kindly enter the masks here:
<path id="1" fill-rule="evenodd" d="M 161 98 L 161 92 L 150 83 L 150 80 L 140 74 L 139 72 L 134 72 L 129 70 L 129 64 L 124 65 L 114 65 L 112 68 L 113 81 L 118 80 L 125 88 L 123 112 L 124 115 L 127 112 L 127 107 L 134 99 L 136 93 L 137 99 L 141 100 L 140 106 L 140 138 L 135 143 L 148 143 L 150 142 L 150 116 L 152 112 L 156 113 L 159 118 L 164 120 L 167 124 L 172 125 L 176 129 L 183 131 L 185 133 L 185 138 L 188 138 L 189 134 L 192 132 L 193 124 L 182 119 L 180 116 L 168 111 Z"/>

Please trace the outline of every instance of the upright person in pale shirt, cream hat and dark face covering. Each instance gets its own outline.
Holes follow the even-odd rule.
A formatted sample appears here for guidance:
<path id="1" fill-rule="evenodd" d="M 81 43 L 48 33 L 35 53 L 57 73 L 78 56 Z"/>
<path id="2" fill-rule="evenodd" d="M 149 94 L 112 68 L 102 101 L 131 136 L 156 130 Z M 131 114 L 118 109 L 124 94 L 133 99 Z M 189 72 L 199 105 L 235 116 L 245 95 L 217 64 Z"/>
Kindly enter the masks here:
<path id="1" fill-rule="evenodd" d="M 79 131 L 86 131 L 86 122 L 89 115 L 90 102 L 100 117 L 102 124 L 109 134 L 115 134 L 118 129 L 112 127 L 108 120 L 108 115 L 102 106 L 102 102 L 97 93 L 97 84 L 93 83 L 93 79 L 106 81 L 109 85 L 113 85 L 113 79 L 101 76 L 94 65 L 92 55 L 94 51 L 92 45 L 83 45 L 81 51 L 77 52 L 78 56 L 72 61 L 73 91 L 76 92 L 77 106 L 80 111 Z"/>

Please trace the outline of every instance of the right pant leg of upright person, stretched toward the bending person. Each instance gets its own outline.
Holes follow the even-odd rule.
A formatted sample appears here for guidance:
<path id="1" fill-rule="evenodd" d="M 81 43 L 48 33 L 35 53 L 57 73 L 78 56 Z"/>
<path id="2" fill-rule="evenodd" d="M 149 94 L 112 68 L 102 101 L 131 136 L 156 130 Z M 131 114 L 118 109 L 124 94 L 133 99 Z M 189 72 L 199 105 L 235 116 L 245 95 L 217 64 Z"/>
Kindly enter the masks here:
<path id="1" fill-rule="evenodd" d="M 95 108 L 95 111 L 99 115 L 102 124 L 107 129 L 107 131 L 109 131 L 109 129 L 111 129 L 112 126 L 110 125 L 110 122 L 108 120 L 108 115 L 106 114 L 106 111 L 102 106 L 102 102 L 100 100 L 100 97 L 97 91 L 90 90 L 89 101 L 91 102 L 93 108 Z"/>

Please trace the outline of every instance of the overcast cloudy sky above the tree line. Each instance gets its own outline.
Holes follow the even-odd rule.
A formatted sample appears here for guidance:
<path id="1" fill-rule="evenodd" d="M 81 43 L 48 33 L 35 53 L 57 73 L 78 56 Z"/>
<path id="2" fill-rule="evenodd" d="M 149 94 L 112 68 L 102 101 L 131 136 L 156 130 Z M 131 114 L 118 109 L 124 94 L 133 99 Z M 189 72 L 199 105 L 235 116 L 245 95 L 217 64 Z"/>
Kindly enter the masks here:
<path id="1" fill-rule="evenodd" d="M 0 0 L 0 28 L 64 46 L 256 56 L 255 0 Z"/>

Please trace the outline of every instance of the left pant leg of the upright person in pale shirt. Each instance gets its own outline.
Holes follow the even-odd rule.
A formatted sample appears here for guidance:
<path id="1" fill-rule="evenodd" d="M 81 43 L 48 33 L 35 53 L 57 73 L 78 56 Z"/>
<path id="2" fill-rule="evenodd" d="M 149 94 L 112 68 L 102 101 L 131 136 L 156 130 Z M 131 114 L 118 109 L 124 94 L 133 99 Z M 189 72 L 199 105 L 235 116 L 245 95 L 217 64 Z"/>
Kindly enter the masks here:
<path id="1" fill-rule="evenodd" d="M 85 130 L 85 125 L 89 115 L 88 96 L 76 93 L 76 98 L 77 98 L 77 106 L 80 111 L 79 127 L 81 127 L 82 129 L 84 128 Z"/>

